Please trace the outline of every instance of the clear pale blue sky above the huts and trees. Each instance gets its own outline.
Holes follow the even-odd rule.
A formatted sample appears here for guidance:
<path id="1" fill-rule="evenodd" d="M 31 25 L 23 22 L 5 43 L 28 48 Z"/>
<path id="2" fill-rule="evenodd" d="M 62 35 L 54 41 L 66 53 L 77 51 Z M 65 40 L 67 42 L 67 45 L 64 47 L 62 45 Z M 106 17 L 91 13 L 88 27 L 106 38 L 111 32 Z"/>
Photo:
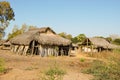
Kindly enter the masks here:
<path id="1" fill-rule="evenodd" d="M 2 1 L 2 0 L 1 0 Z M 14 25 L 51 27 L 56 33 L 87 37 L 120 35 L 120 0 L 7 0 L 15 12 Z"/>

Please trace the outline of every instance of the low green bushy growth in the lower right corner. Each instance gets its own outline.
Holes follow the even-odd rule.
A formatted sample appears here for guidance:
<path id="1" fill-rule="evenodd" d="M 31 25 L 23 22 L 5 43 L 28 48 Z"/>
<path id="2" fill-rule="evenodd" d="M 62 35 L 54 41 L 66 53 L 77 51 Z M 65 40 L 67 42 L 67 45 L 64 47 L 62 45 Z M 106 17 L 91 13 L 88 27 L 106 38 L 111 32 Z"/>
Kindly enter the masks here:
<path id="1" fill-rule="evenodd" d="M 120 79 L 120 62 L 116 63 L 104 63 L 102 61 L 95 60 L 91 66 L 83 70 L 84 73 L 93 74 L 95 78 L 93 80 L 119 80 Z"/>

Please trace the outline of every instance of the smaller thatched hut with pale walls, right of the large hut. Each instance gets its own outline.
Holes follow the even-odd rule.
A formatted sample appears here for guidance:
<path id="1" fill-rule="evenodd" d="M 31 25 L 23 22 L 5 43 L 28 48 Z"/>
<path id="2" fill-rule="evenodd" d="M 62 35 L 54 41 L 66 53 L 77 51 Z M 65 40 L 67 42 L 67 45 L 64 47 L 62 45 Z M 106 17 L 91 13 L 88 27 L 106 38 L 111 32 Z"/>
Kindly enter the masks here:
<path id="1" fill-rule="evenodd" d="M 101 52 L 111 51 L 115 48 L 114 45 L 110 44 L 103 38 L 86 38 L 82 43 L 82 52 Z"/>

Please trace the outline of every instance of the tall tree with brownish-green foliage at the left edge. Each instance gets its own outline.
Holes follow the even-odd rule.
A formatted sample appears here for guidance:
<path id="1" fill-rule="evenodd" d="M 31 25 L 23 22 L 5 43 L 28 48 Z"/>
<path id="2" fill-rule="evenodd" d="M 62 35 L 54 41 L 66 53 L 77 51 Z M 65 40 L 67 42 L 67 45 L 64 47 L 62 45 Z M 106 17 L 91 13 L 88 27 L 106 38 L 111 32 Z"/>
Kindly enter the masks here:
<path id="1" fill-rule="evenodd" d="M 4 30 L 8 27 L 9 22 L 14 20 L 14 12 L 7 1 L 0 2 L 0 39 L 4 36 Z"/>

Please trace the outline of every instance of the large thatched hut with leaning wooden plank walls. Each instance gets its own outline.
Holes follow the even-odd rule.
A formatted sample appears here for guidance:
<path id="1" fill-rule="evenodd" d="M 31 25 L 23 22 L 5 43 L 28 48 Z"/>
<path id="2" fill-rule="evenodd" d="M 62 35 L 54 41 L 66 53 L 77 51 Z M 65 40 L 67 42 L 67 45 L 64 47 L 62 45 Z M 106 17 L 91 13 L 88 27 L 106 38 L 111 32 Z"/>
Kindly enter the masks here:
<path id="1" fill-rule="evenodd" d="M 60 37 L 49 27 L 29 30 L 10 42 L 13 52 L 41 56 L 68 55 L 71 45 L 70 40 Z"/>

